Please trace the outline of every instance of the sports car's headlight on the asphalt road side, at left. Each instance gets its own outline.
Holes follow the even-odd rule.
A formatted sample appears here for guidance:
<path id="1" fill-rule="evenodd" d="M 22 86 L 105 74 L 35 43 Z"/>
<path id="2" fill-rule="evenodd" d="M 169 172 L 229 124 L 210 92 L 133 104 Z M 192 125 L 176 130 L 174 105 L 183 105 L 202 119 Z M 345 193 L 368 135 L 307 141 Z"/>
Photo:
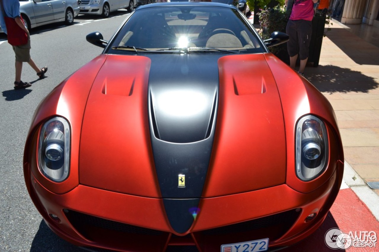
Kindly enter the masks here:
<path id="1" fill-rule="evenodd" d="M 50 180 L 62 182 L 70 171 L 70 126 L 54 117 L 41 128 L 38 148 L 39 170 Z"/>

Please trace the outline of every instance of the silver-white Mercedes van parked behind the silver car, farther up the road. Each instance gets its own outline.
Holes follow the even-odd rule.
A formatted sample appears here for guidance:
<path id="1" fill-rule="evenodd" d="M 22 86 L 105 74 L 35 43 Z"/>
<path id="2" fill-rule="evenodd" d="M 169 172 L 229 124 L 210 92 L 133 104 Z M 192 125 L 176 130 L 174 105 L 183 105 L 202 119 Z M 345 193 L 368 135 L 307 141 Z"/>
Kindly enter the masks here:
<path id="1" fill-rule="evenodd" d="M 78 0 L 79 14 L 95 14 L 108 17 L 109 13 L 118 9 L 133 11 L 137 0 Z"/>

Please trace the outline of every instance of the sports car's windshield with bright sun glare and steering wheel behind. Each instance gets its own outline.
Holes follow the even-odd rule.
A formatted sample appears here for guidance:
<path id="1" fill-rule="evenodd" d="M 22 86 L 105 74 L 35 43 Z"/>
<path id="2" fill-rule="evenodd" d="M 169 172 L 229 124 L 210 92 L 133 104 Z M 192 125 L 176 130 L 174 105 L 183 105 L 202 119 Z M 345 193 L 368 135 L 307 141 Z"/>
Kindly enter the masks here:
<path id="1" fill-rule="evenodd" d="M 220 6 L 137 9 L 113 40 L 108 53 L 161 52 L 174 48 L 263 52 L 262 45 L 251 29 L 238 11 Z"/>

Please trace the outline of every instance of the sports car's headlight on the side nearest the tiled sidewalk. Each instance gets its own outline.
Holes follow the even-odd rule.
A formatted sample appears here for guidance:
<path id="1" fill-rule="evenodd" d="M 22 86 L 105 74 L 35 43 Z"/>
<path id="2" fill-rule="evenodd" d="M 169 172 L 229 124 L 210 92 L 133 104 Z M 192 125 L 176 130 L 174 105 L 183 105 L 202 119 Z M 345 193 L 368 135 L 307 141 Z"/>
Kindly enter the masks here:
<path id="1" fill-rule="evenodd" d="M 328 162 L 328 139 L 323 121 L 306 115 L 296 124 L 296 174 L 309 181 L 318 177 Z"/>

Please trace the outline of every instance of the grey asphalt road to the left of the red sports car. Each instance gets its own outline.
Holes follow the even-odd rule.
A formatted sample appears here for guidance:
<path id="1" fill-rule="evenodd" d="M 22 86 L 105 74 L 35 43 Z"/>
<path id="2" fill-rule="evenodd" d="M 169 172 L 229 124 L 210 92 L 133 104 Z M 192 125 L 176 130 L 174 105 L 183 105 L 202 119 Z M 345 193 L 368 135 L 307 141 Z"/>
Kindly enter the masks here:
<path id="1" fill-rule="evenodd" d="M 102 52 L 89 44 L 86 35 L 99 31 L 108 40 L 127 17 L 124 9 L 108 19 L 99 16 L 75 18 L 31 29 L 31 58 L 41 68 L 49 67 L 45 79 L 23 64 L 22 81 L 28 89 L 14 90 L 14 53 L 0 33 L 0 251 L 83 251 L 56 236 L 37 212 L 25 187 L 22 158 L 34 110 L 60 82 Z"/>

